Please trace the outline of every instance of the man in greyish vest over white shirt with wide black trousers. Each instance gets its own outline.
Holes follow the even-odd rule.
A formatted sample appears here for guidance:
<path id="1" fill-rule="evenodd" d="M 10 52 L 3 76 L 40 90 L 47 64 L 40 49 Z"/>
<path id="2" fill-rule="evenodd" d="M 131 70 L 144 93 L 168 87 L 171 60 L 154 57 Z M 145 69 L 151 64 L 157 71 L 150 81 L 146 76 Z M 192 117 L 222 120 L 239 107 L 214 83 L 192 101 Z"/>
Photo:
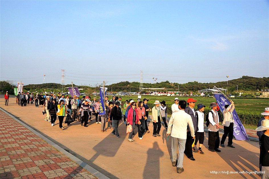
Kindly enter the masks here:
<path id="1" fill-rule="evenodd" d="M 219 115 L 216 111 L 217 103 L 210 103 L 211 111 L 208 113 L 208 150 L 211 152 L 221 152 L 219 150 Z"/>

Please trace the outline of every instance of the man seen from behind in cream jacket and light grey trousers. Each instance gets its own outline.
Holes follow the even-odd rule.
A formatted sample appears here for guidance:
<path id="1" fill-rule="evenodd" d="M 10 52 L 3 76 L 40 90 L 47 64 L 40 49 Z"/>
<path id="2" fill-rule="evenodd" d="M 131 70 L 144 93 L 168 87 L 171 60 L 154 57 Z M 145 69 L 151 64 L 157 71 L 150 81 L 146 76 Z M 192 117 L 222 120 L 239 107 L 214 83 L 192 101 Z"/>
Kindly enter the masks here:
<path id="1" fill-rule="evenodd" d="M 168 129 L 166 132 L 166 136 L 168 137 L 169 134 L 171 134 L 172 138 L 172 145 L 171 145 L 172 166 L 176 166 L 176 155 L 178 149 L 178 162 L 176 166 L 176 172 L 178 173 L 184 172 L 183 158 L 184 158 L 185 143 L 187 139 L 187 125 L 189 125 L 191 136 L 193 137 L 193 139 L 195 139 L 192 118 L 184 111 L 186 106 L 187 102 L 185 100 L 179 101 L 178 103 L 179 110 L 172 113 L 168 123 Z"/>

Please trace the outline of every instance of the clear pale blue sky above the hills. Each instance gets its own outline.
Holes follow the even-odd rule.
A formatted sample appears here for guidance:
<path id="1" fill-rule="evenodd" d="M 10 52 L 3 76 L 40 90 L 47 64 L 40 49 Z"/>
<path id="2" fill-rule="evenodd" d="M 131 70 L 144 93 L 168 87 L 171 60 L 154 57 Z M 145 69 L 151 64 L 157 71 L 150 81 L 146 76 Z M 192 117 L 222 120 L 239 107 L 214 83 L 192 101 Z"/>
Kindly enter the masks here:
<path id="1" fill-rule="evenodd" d="M 268 1 L 0 1 L 1 80 L 268 77 Z M 152 78 L 157 78 L 154 81 Z"/>

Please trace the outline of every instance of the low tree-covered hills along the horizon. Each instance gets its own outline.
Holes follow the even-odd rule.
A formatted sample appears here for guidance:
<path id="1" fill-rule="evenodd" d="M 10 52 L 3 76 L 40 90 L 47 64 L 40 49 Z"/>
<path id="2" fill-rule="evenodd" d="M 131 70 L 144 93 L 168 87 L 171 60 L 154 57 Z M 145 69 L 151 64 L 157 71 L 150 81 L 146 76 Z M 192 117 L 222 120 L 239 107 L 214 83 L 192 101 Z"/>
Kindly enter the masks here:
<path id="1" fill-rule="evenodd" d="M 138 91 L 139 90 L 139 82 L 119 82 L 116 84 L 111 84 L 106 86 L 108 88 L 108 91 Z M 198 91 L 201 89 L 206 88 L 213 88 L 214 86 L 217 86 L 218 88 L 228 88 L 229 91 L 235 91 L 238 85 L 238 90 L 245 90 L 245 91 L 257 91 L 257 89 L 268 89 L 269 85 L 269 77 L 263 77 L 263 78 L 256 78 L 251 76 L 242 76 L 242 78 L 237 78 L 234 80 L 229 80 L 228 85 L 227 81 L 223 82 L 217 82 L 217 83 L 198 83 L 196 81 L 194 82 L 188 82 L 185 84 L 179 84 L 179 83 L 170 83 L 169 81 L 165 82 L 157 82 L 155 84 L 151 83 L 143 83 L 143 88 L 164 88 L 165 89 L 174 89 L 177 90 L 179 86 L 179 91 L 187 92 L 187 91 Z M 65 85 L 65 87 L 70 87 L 71 84 Z M 85 86 L 78 86 L 73 84 L 73 86 L 77 86 L 79 88 L 85 88 Z M 61 84 L 56 83 L 44 83 L 44 84 L 29 84 L 25 85 L 23 87 L 27 90 L 34 90 L 34 89 L 61 89 Z M 86 87 L 86 88 L 92 88 L 92 87 Z"/>

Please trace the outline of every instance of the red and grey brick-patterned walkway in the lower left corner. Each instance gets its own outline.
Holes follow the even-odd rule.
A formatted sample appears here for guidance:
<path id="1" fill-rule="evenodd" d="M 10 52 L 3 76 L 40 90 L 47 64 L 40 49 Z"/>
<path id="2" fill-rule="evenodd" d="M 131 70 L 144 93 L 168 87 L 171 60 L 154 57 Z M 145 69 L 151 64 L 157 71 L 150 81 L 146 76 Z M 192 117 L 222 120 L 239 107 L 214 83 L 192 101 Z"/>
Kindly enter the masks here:
<path id="1" fill-rule="evenodd" d="M 0 178 L 96 178 L 0 110 Z"/>

